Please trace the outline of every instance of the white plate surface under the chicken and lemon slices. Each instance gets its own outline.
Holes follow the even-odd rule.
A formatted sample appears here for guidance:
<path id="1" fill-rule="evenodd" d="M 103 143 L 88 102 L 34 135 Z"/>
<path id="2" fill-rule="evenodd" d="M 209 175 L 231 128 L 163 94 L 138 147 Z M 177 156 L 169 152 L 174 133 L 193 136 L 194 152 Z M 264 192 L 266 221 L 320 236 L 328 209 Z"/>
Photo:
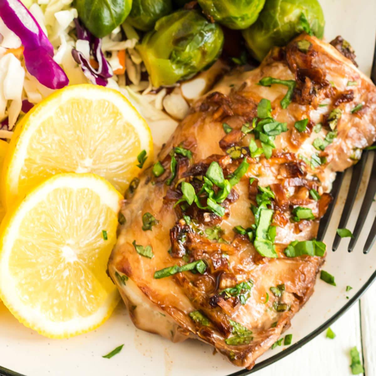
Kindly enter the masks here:
<path id="1" fill-rule="evenodd" d="M 360 69 L 369 74 L 376 35 L 376 2 L 321 0 L 321 3 L 326 18 L 326 39 L 329 41 L 342 35 L 349 40 L 356 50 Z M 369 171 L 370 163 L 367 167 Z M 288 349 L 277 347 L 269 350 L 258 360 L 254 370 L 296 350 L 323 331 L 376 278 L 376 247 L 368 255 L 362 253 L 365 237 L 376 214 L 376 204 L 371 209 L 356 250 L 347 253 L 348 240 L 343 239 L 337 252 L 331 251 L 349 177 L 348 171 L 325 238 L 328 252 L 324 270 L 335 276 L 337 287 L 318 279 L 315 293 L 293 318 L 292 326 L 287 332 L 293 334 L 293 344 Z M 365 186 L 366 181 L 363 181 L 361 195 L 364 194 Z M 360 205 L 358 197 L 354 209 L 356 213 Z M 349 229 L 353 228 L 356 217 L 357 215 L 353 215 L 350 218 L 347 226 Z M 345 291 L 347 285 L 353 287 L 348 293 Z M 347 300 L 346 296 L 350 299 Z M 133 326 L 122 304 L 99 329 L 69 340 L 49 340 L 36 334 L 18 323 L 2 303 L 0 317 L 0 365 L 27 376 L 225 376 L 233 373 L 245 375 L 249 372 L 229 364 L 220 354 L 213 355 L 213 348 L 199 341 L 187 340 L 172 344 L 157 335 L 139 331 Z M 124 344 L 124 348 L 118 355 L 112 359 L 102 358 L 102 355 L 120 344 Z M 15 375 L 0 367 L 0 374 L 2 372 Z"/>

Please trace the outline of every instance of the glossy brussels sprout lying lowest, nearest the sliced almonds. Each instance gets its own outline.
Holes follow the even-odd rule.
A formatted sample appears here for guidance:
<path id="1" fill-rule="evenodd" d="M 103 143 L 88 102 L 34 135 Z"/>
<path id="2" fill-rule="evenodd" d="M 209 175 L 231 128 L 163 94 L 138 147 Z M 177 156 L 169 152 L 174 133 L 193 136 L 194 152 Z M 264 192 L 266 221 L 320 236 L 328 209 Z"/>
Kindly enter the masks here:
<path id="1" fill-rule="evenodd" d="M 223 32 L 196 11 L 162 17 L 136 48 L 155 87 L 188 79 L 220 55 Z"/>

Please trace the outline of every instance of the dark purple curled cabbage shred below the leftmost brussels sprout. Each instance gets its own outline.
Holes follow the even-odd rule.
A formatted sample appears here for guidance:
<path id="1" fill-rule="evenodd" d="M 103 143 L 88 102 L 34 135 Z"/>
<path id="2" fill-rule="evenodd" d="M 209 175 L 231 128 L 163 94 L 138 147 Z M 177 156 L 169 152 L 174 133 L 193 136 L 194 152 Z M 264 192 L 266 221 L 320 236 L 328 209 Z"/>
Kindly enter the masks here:
<path id="1" fill-rule="evenodd" d="M 1 1 L 1 0 L 0 0 Z M 79 21 L 78 18 L 74 19 L 76 24 L 77 38 L 89 42 L 90 54 L 98 63 L 98 69 L 95 69 L 90 64 L 90 61 L 85 58 L 82 52 L 72 49 L 73 59 L 77 64 L 80 64 L 83 74 L 90 80 L 91 83 L 96 85 L 106 86 L 108 78 L 112 77 L 114 73 L 108 61 L 102 52 L 102 39 L 92 35 Z"/>

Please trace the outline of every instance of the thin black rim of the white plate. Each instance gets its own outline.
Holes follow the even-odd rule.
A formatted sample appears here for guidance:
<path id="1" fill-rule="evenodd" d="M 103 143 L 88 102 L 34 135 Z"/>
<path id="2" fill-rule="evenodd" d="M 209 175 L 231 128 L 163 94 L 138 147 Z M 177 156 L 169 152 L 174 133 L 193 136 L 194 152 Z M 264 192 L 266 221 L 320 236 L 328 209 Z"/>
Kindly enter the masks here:
<path id="1" fill-rule="evenodd" d="M 261 370 L 262 368 L 267 367 L 268 365 L 271 365 L 279 361 L 280 359 L 285 358 L 287 355 L 290 355 L 291 353 L 300 349 L 300 347 L 304 346 L 306 343 L 313 340 L 320 333 L 322 333 L 325 329 L 327 329 L 327 327 L 329 327 L 332 323 L 334 323 L 334 321 L 338 320 L 338 318 L 340 318 L 353 304 L 355 304 L 360 299 L 360 297 L 365 293 L 365 291 L 367 291 L 367 289 L 372 285 L 372 283 L 375 282 L 375 280 L 376 280 L 376 270 L 371 274 L 370 278 L 368 278 L 367 282 L 365 282 L 365 284 L 358 290 L 358 292 L 339 311 L 337 311 L 331 318 L 326 320 L 323 324 L 317 327 L 314 331 L 307 334 L 301 340 L 297 341 L 297 343 L 294 343 L 293 345 L 288 347 L 286 350 L 283 350 L 280 353 L 273 355 L 270 358 L 265 359 L 264 361 L 256 364 L 255 367 L 252 368 L 252 370 L 247 370 L 247 368 L 243 368 L 242 370 L 236 371 L 234 373 L 230 373 L 225 376 L 247 376 L 251 373 Z M 22 373 L 18 373 L 17 371 L 9 370 L 8 368 L 2 367 L 1 365 L 0 365 L 0 375 L 1 376 L 27 376 Z"/>

